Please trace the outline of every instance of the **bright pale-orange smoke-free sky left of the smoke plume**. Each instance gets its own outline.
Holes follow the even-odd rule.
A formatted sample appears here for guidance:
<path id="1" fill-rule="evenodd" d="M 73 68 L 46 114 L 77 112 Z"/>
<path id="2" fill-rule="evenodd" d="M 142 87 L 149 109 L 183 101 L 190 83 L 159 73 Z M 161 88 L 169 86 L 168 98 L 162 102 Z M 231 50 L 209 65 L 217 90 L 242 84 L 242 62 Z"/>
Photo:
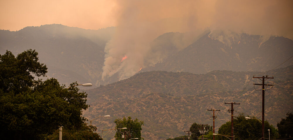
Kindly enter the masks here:
<path id="1" fill-rule="evenodd" d="M 0 28 L 63 24 L 83 29 L 116 26 L 112 0 L 9 0 L 0 1 Z"/>

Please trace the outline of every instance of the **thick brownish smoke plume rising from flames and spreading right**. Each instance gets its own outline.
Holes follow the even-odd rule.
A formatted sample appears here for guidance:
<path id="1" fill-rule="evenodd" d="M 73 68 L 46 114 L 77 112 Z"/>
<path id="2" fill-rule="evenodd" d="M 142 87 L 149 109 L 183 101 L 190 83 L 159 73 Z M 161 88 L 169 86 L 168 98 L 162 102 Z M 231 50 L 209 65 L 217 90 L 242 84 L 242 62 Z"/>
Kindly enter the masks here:
<path id="1" fill-rule="evenodd" d="M 188 32 L 189 43 L 207 29 L 226 45 L 231 32 L 293 39 L 292 1 L 129 0 L 116 6 L 117 31 L 105 47 L 103 78 L 118 72 L 122 80 L 157 63 L 164 55 L 154 54 L 150 43 L 166 32 Z"/>

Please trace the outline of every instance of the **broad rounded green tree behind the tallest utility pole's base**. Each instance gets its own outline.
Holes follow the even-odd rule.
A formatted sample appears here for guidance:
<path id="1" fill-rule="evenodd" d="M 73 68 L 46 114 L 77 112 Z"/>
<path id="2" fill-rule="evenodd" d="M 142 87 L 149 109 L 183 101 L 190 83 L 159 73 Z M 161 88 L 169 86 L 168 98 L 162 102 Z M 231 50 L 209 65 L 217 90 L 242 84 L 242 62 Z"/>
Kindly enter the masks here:
<path id="1" fill-rule="evenodd" d="M 252 117 L 254 118 L 254 117 Z M 270 138 L 276 139 L 278 137 L 277 129 L 265 121 L 265 138 L 268 138 L 268 129 L 270 129 Z M 257 119 L 245 119 L 243 113 L 234 117 L 234 139 L 235 140 L 250 140 L 260 139 L 262 132 L 262 124 Z M 231 136 L 231 121 L 226 122 L 219 128 L 219 134 Z M 219 140 L 227 140 L 224 136 L 217 136 Z"/>

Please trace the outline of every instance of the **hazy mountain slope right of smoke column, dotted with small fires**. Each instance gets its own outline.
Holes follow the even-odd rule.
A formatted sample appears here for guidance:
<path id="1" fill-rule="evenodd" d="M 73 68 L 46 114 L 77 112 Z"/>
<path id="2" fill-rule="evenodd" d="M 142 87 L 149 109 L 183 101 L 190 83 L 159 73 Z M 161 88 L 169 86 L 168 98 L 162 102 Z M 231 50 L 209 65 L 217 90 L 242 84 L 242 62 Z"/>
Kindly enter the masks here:
<path id="1" fill-rule="evenodd" d="M 238 34 L 231 46 L 205 34 L 178 53 L 144 71 L 173 71 L 205 74 L 213 70 L 266 71 L 293 56 L 293 41 L 270 37 L 262 42 L 259 35 Z M 286 62 L 283 67 L 293 64 Z"/>

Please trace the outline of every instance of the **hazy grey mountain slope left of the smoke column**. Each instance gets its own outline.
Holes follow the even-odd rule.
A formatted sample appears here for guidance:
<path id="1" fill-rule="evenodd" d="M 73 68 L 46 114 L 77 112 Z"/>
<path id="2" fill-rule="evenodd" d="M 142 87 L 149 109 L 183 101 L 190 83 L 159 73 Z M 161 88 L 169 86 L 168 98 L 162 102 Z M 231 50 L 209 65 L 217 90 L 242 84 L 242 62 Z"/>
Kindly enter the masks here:
<path id="1" fill-rule="evenodd" d="M 0 53 L 9 50 L 17 55 L 27 49 L 36 50 L 40 62 L 48 67 L 49 78 L 66 85 L 78 81 L 98 86 L 104 84 L 104 46 L 113 31 L 113 27 L 85 30 L 61 24 L 0 30 Z"/>

